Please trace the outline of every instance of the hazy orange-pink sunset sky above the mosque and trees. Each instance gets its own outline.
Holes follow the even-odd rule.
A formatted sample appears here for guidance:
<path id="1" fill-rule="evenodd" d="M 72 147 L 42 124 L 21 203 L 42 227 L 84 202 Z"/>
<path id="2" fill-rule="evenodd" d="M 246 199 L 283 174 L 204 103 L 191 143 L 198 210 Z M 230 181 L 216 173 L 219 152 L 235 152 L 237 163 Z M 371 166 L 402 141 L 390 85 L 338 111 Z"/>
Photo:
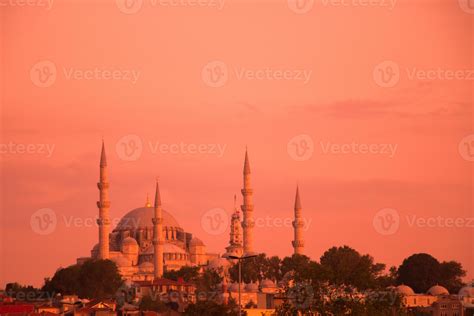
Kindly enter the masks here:
<path id="1" fill-rule="evenodd" d="M 388 266 L 427 252 L 461 262 L 466 280 L 474 278 L 474 162 L 458 150 L 473 133 L 474 15 L 460 1 L 399 0 L 390 8 L 315 0 L 303 13 L 286 0 L 227 0 L 222 9 L 143 0 L 126 14 L 113 0 L 57 0 L 49 10 L 0 0 L 0 287 L 39 286 L 89 254 L 97 227 L 67 221 L 98 214 L 102 137 L 113 219 L 143 206 L 159 175 L 165 209 L 209 251 L 223 253 L 228 231 L 209 234 L 201 218 L 214 208 L 230 213 L 234 194 L 241 201 L 248 146 L 254 216 L 291 218 L 298 182 L 311 220 L 305 252 L 313 259 L 344 244 Z M 41 87 L 35 71 L 45 60 L 55 65 L 56 79 Z M 214 61 L 227 66 L 221 87 L 206 76 Z M 384 61 L 400 70 L 390 87 L 377 77 Z M 78 77 L 96 68 L 92 78 Z M 104 70 L 138 77 L 112 80 Z M 251 72 L 241 76 L 245 70 Z M 252 79 L 256 71 L 262 79 Z M 283 71 L 293 79 L 278 77 Z M 300 71 L 307 81 L 299 80 Z M 434 77 L 424 79 L 427 71 Z M 144 145 L 135 161 L 116 150 L 127 135 Z M 314 144 L 302 161 L 288 146 L 299 135 Z M 396 150 L 325 150 L 353 141 Z M 149 144 L 156 142 L 225 150 L 153 153 Z M 10 143 L 33 152 L 5 150 Z M 54 149 L 41 153 L 36 144 Z M 58 218 L 47 235 L 30 225 L 43 208 Z M 391 234 L 373 224 L 385 208 L 400 216 Z M 448 224 L 412 222 L 439 216 Z M 446 219 L 464 224 L 446 227 Z M 291 227 L 264 225 L 255 229 L 255 248 L 287 256 L 292 237 Z"/>

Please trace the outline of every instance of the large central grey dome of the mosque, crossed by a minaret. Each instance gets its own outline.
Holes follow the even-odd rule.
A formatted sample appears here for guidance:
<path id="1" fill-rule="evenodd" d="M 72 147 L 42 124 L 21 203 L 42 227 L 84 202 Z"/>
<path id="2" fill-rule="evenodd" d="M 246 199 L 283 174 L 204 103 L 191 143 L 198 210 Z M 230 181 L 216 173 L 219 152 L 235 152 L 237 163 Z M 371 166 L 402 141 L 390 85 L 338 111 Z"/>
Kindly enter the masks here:
<path id="1" fill-rule="evenodd" d="M 114 230 L 130 230 L 146 227 L 151 228 L 153 227 L 153 216 L 153 207 L 136 208 L 125 214 Z M 176 219 L 165 210 L 163 210 L 163 227 L 181 228 Z"/>

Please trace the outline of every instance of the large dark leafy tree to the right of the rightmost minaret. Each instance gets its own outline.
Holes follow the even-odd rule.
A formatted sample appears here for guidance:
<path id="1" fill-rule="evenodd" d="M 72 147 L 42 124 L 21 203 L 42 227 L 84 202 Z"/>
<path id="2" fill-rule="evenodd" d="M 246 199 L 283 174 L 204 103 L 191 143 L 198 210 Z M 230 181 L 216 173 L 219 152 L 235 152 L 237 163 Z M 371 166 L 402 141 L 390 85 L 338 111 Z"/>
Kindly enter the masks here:
<path id="1" fill-rule="evenodd" d="M 369 255 L 360 255 L 356 250 L 332 247 L 321 257 L 321 267 L 331 284 L 352 285 L 359 290 L 379 286 L 379 277 L 385 264 L 374 263 Z"/>

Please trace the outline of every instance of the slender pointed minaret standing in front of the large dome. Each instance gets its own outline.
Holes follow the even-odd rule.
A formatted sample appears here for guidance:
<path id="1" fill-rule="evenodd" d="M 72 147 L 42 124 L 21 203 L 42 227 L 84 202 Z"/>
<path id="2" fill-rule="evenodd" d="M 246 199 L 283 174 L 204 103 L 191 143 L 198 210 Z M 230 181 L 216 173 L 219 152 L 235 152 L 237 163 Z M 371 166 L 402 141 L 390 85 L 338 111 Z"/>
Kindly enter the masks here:
<path id="1" fill-rule="evenodd" d="M 154 248 L 154 275 L 155 278 L 163 276 L 163 210 L 158 180 L 156 180 L 155 213 L 153 216 L 153 248 Z"/>

